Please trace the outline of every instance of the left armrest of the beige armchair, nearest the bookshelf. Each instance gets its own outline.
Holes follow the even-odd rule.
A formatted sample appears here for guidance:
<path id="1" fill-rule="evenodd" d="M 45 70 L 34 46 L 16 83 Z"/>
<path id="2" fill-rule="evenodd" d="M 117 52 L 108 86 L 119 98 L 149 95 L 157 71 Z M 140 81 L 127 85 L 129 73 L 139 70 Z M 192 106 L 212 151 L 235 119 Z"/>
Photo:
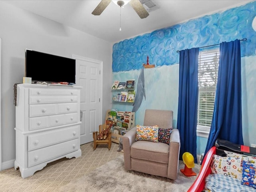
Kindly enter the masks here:
<path id="1" fill-rule="evenodd" d="M 123 149 L 124 149 L 124 169 L 131 170 L 131 145 L 136 139 L 136 127 L 132 128 L 123 136 Z"/>

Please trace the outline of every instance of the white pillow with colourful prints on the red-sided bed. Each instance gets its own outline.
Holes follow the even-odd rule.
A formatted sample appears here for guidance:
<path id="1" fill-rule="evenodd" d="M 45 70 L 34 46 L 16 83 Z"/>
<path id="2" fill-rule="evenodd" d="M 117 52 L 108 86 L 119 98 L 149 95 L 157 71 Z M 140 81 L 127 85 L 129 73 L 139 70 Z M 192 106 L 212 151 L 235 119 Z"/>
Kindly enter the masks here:
<path id="1" fill-rule="evenodd" d="M 212 173 L 218 173 L 242 180 L 243 162 L 255 164 L 254 157 L 234 153 L 233 156 L 221 157 L 213 155 L 211 162 Z"/>

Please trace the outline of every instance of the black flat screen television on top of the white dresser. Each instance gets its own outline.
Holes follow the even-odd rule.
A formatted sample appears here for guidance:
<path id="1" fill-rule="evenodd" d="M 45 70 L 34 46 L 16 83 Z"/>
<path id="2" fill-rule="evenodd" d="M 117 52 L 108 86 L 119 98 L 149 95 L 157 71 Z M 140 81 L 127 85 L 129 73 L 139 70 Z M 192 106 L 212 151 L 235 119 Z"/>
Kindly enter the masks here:
<path id="1" fill-rule="evenodd" d="M 32 82 L 76 83 L 76 60 L 34 50 L 25 50 L 25 76 Z"/>

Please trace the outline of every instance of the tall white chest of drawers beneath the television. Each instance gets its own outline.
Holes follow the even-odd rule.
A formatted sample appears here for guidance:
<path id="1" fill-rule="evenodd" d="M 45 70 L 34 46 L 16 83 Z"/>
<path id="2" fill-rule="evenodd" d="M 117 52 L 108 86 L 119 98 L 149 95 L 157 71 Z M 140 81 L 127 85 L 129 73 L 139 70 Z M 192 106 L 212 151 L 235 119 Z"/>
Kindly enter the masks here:
<path id="1" fill-rule="evenodd" d="M 17 85 L 16 160 L 22 178 L 47 163 L 80 157 L 78 86 Z"/>

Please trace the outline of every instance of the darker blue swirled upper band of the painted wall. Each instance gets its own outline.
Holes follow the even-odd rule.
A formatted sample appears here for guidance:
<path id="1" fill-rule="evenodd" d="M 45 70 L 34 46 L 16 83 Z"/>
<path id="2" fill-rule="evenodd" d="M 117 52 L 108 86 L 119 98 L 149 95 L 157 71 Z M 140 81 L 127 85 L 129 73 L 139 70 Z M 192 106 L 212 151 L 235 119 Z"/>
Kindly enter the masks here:
<path id="1" fill-rule="evenodd" d="M 247 38 L 248 42 L 241 43 L 241 55 L 255 54 L 255 46 L 250 43 L 256 42 L 252 28 L 252 20 L 256 16 L 255 6 L 256 3 L 252 2 L 118 42 L 113 46 L 112 70 L 140 69 L 141 64 L 146 63 L 147 56 L 150 58 L 149 63 L 156 66 L 178 64 L 177 50 L 242 38 Z"/>

